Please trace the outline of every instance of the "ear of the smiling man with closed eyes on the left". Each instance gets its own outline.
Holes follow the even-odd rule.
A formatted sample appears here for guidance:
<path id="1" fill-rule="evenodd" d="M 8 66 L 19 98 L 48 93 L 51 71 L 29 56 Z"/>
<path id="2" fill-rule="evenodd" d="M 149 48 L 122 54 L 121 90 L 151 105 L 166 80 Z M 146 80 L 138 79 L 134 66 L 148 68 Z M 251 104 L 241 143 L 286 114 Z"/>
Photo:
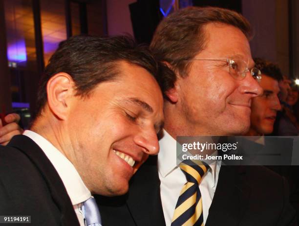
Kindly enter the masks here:
<path id="1" fill-rule="evenodd" d="M 67 73 L 57 73 L 47 82 L 47 103 L 51 112 L 59 119 L 66 119 L 74 91 L 73 79 Z"/>

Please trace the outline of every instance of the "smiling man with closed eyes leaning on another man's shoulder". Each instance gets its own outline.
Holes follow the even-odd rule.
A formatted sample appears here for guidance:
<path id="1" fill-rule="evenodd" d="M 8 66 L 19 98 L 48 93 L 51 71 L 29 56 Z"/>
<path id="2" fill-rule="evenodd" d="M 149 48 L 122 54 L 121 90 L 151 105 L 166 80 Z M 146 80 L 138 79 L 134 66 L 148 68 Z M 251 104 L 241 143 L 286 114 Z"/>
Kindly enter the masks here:
<path id="1" fill-rule="evenodd" d="M 30 130 L 0 146 L 1 215 L 31 216 L 33 226 L 101 226 L 92 194 L 126 193 L 159 151 L 159 70 L 127 37 L 62 42 L 45 68 Z"/>

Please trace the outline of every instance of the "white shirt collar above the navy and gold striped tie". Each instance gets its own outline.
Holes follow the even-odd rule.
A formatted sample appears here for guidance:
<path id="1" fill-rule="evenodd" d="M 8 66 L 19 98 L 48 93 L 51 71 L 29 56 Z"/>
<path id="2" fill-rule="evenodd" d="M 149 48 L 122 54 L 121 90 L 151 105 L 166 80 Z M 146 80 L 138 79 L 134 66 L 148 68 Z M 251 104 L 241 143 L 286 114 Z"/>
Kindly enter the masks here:
<path id="1" fill-rule="evenodd" d="M 163 178 L 170 174 L 174 169 L 178 167 L 176 163 L 176 140 L 163 130 L 164 136 L 159 140 L 160 152 L 158 154 L 158 170 Z M 221 161 L 213 161 L 209 164 L 213 181 L 216 178 L 216 165 L 221 165 Z"/>

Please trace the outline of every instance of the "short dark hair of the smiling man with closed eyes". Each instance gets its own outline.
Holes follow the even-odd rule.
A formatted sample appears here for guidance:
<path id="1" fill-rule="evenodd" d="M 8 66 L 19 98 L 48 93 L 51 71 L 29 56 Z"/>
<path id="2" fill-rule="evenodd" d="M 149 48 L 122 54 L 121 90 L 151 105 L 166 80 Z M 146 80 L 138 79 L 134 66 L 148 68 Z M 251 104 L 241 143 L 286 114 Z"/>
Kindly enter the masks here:
<path id="1" fill-rule="evenodd" d="M 99 83 L 113 80 L 121 73 L 118 68 L 120 61 L 148 70 L 163 91 L 165 80 L 158 74 L 162 70 L 166 70 L 163 73 L 171 73 L 170 69 L 158 63 L 147 46 L 137 45 L 128 36 L 74 36 L 60 43 L 44 69 L 36 116 L 42 113 L 47 102 L 46 86 L 53 75 L 59 72 L 69 74 L 74 80 L 77 95 L 86 96 Z"/>

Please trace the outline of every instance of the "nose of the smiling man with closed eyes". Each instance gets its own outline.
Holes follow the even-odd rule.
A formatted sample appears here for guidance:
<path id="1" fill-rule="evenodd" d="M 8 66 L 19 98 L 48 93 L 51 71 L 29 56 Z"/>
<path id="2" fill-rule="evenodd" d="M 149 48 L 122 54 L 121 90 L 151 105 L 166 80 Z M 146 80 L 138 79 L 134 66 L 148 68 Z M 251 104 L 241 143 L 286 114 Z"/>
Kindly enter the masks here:
<path id="1" fill-rule="evenodd" d="M 134 136 L 134 142 L 148 155 L 157 155 L 159 152 L 159 141 L 154 128 L 141 130 Z"/>

